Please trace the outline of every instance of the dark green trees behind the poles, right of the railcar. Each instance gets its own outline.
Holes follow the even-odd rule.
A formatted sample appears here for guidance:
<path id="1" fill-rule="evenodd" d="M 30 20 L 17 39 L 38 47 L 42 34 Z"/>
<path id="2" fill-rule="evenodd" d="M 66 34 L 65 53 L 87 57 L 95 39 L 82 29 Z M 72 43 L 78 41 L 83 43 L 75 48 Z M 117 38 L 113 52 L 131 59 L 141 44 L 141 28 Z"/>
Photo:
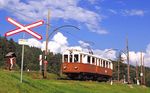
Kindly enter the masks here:
<path id="1" fill-rule="evenodd" d="M 119 62 L 120 65 L 120 71 L 119 71 L 119 80 L 120 82 L 123 82 L 125 79 L 127 81 L 127 64 L 123 63 L 123 61 Z M 140 76 L 140 66 L 138 66 L 138 80 L 141 80 Z M 150 87 L 150 68 L 145 67 L 145 84 L 146 86 Z M 113 80 L 118 80 L 118 61 L 113 61 Z M 136 84 L 136 67 L 130 65 L 130 81 L 132 84 Z"/>

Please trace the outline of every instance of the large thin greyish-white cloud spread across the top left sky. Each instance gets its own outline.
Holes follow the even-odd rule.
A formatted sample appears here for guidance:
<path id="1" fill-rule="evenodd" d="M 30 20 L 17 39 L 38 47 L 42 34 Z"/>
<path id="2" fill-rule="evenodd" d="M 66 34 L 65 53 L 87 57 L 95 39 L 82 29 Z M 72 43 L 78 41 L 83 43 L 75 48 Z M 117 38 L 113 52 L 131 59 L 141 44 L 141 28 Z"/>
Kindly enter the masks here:
<path id="1" fill-rule="evenodd" d="M 7 10 L 14 16 L 25 21 L 44 19 L 50 9 L 52 19 L 71 19 L 84 23 L 92 32 L 107 34 L 107 31 L 100 26 L 102 16 L 78 6 L 79 2 L 80 0 L 26 0 L 25 3 L 21 0 L 0 0 L 0 6 L 8 8 Z"/>

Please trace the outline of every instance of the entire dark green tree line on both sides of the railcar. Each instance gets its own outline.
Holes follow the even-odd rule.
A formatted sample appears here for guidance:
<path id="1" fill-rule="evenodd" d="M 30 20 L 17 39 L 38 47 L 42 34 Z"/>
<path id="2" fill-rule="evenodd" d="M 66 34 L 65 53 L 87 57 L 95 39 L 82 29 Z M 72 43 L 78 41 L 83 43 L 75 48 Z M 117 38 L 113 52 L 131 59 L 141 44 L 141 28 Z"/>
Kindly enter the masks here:
<path id="1" fill-rule="evenodd" d="M 22 46 L 18 43 L 14 42 L 13 39 L 7 40 L 5 37 L 0 37 L 0 68 L 5 69 L 6 68 L 6 58 L 5 55 L 9 52 L 15 52 L 16 54 L 16 70 L 20 70 L 21 66 L 21 52 L 22 52 Z M 29 47 L 25 46 L 25 53 L 24 53 L 24 70 L 30 69 L 31 71 L 39 71 L 39 55 L 43 54 L 44 52 L 41 51 L 41 49 L 36 47 Z M 49 73 L 60 73 L 61 68 L 61 61 L 62 57 L 61 54 L 54 54 L 50 52 L 47 56 L 48 60 L 48 67 L 47 71 Z M 118 62 L 113 61 L 113 80 L 118 79 Z M 139 74 L 140 74 L 140 67 Z M 136 78 L 136 68 L 134 66 L 130 66 L 130 79 L 132 83 L 135 83 Z M 146 73 L 146 85 L 150 86 L 150 68 L 146 67 L 145 69 Z M 120 78 L 119 80 L 127 79 L 127 65 L 123 62 L 120 62 Z M 140 75 L 139 75 L 140 80 Z"/>

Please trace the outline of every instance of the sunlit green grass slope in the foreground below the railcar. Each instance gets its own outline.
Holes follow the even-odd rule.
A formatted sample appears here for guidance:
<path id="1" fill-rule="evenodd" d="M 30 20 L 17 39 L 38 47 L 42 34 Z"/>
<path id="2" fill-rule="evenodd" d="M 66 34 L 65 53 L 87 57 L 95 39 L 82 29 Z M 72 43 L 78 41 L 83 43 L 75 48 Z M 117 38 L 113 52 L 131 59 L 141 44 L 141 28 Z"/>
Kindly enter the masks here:
<path id="1" fill-rule="evenodd" d="M 150 88 L 136 85 L 131 88 L 125 84 L 56 80 L 54 74 L 48 74 L 48 80 L 36 76 L 37 72 L 24 73 L 20 83 L 19 72 L 0 70 L 0 93 L 150 93 Z"/>

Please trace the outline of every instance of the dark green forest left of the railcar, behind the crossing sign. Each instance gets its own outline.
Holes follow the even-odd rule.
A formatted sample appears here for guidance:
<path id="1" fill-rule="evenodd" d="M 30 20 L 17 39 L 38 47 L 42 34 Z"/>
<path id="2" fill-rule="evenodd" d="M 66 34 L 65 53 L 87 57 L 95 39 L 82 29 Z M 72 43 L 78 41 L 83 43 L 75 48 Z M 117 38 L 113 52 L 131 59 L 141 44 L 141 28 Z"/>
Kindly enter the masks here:
<path id="1" fill-rule="evenodd" d="M 13 39 L 7 40 L 5 37 L 0 37 L 0 68 L 6 68 L 5 55 L 9 52 L 16 54 L 16 68 L 21 67 L 21 53 L 22 46 L 14 42 Z M 39 55 L 43 54 L 41 49 L 36 47 L 25 46 L 24 50 L 24 70 L 30 69 L 31 71 L 39 70 Z M 48 72 L 59 74 L 61 65 L 61 54 L 53 54 L 52 52 L 47 56 Z"/>

